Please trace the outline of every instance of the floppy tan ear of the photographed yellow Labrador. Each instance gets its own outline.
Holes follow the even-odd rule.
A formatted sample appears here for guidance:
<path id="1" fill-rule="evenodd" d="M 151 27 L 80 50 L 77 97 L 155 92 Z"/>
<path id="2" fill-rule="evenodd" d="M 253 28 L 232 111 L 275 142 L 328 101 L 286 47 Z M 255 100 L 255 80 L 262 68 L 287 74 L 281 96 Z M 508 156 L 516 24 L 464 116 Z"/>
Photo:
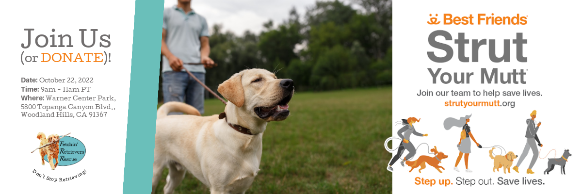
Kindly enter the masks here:
<path id="1" fill-rule="evenodd" d="M 226 100 L 235 104 L 236 107 L 242 107 L 244 104 L 244 89 L 242 83 L 243 73 L 236 73 L 228 80 L 218 85 L 218 93 L 222 94 Z"/>

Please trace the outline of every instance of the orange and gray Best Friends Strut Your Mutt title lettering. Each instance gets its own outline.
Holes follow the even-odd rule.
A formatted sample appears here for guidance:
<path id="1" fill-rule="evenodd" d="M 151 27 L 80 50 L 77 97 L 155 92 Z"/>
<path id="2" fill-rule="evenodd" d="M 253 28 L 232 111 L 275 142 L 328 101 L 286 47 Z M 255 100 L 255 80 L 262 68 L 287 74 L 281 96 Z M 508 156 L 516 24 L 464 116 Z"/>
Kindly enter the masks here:
<path id="1" fill-rule="evenodd" d="M 432 14 L 429 14 L 430 19 L 428 20 L 428 24 L 430 25 L 473 25 L 473 24 L 485 24 L 485 25 L 525 25 L 527 24 L 527 15 L 520 16 L 519 13 L 516 16 L 494 16 L 494 13 L 491 13 L 491 16 L 485 16 L 485 14 L 480 13 L 477 15 L 477 18 L 473 17 L 473 15 L 469 16 L 453 16 L 452 14 L 445 13 L 442 15 L 442 21 L 438 19 L 438 14 L 435 14 L 435 17 L 432 17 Z M 475 21 L 474 21 L 475 19 Z M 445 38 L 444 41 L 438 40 L 437 37 Z M 526 63 L 527 57 L 524 55 L 524 47 L 527 44 L 527 39 L 524 38 L 524 33 L 517 32 L 512 37 L 513 39 L 503 39 L 501 40 L 501 44 L 503 44 L 503 52 L 502 55 L 499 56 L 496 51 L 496 44 L 499 44 L 500 41 L 496 41 L 494 39 L 467 39 L 465 38 L 465 33 L 458 33 L 457 38 L 453 40 L 452 34 L 445 30 L 434 30 L 430 34 L 428 34 L 428 44 L 431 45 L 432 48 L 437 50 L 441 50 L 445 52 L 445 55 L 437 55 L 435 54 L 434 50 L 427 51 L 427 57 L 431 59 L 432 62 L 438 64 L 446 64 L 447 62 L 453 59 L 453 55 L 455 52 L 458 56 L 458 62 L 466 63 L 466 62 L 479 62 L 479 50 L 485 49 L 488 51 L 489 61 L 499 63 L 499 62 L 512 62 L 512 58 L 520 63 Z M 449 44 L 456 44 L 456 46 L 451 46 Z M 514 44 L 515 50 L 512 54 L 512 44 Z M 455 47 L 457 51 L 455 51 Z M 466 52 L 466 48 L 470 48 L 470 52 Z M 512 55 L 514 57 L 512 57 Z M 482 57 L 481 57 L 482 58 Z M 456 61 L 453 61 L 456 62 Z M 473 76 L 474 72 L 445 72 L 442 70 L 443 68 L 437 68 L 433 70 L 432 68 L 428 68 L 428 72 L 432 77 L 432 83 L 437 84 L 437 82 L 441 82 L 443 84 L 455 83 L 455 84 L 469 84 L 471 83 L 471 76 Z M 526 74 L 528 69 L 512 69 L 510 72 L 501 72 L 498 68 L 481 68 L 481 84 L 526 84 Z"/>

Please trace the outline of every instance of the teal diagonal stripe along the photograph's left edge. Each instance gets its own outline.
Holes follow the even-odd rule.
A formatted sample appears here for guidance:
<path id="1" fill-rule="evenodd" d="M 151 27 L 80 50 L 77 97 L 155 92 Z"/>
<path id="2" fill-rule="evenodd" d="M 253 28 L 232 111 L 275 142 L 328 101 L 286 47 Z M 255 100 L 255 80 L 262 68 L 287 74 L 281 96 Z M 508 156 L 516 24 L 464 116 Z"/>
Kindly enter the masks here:
<path id="1" fill-rule="evenodd" d="M 163 0 L 136 1 L 123 193 L 151 193 L 163 14 Z"/>

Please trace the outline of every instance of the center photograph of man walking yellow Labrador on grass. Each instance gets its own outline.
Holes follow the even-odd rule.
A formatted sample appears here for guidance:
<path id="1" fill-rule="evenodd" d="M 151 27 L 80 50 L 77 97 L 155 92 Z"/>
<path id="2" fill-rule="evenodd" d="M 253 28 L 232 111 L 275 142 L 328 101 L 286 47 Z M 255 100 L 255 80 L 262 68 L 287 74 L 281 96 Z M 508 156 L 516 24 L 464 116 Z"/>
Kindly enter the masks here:
<path id="1" fill-rule="evenodd" d="M 161 39 L 152 193 L 391 193 L 391 1 L 168 0 Z"/>

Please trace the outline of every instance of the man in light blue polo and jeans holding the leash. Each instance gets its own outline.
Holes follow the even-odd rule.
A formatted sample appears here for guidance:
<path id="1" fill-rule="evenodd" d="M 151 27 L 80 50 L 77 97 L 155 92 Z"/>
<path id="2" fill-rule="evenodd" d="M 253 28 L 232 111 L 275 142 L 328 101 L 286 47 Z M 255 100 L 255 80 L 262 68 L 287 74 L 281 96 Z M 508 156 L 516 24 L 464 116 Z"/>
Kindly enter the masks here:
<path id="1" fill-rule="evenodd" d="M 206 19 L 190 8 L 190 0 L 164 9 L 162 24 L 162 90 L 164 103 L 180 101 L 204 114 L 204 87 L 183 68 L 204 82 L 206 70 L 215 66 L 210 55 Z M 184 65 L 202 63 L 204 65 Z"/>

